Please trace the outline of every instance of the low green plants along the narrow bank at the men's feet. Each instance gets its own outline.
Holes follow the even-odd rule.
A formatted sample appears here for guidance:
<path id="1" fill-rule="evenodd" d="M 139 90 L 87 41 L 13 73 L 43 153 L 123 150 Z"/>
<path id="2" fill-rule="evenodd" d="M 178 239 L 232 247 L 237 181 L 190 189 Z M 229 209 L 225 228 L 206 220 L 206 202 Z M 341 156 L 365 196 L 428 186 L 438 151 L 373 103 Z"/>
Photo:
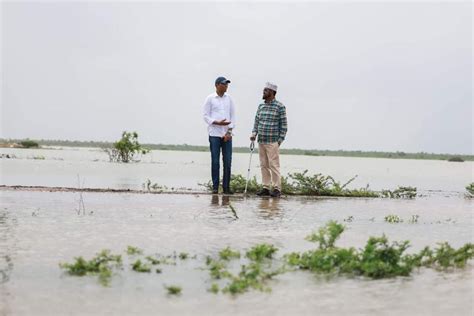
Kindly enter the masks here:
<path id="1" fill-rule="evenodd" d="M 365 188 L 349 189 L 349 184 L 357 176 L 349 179 L 345 183 L 336 181 L 332 176 L 325 176 L 320 173 L 309 175 L 308 170 L 303 172 L 289 173 L 287 177 L 281 177 L 281 192 L 285 195 L 305 195 L 305 196 L 339 196 L 339 197 L 386 197 L 386 198 L 406 198 L 416 197 L 415 187 L 398 187 L 394 191 L 383 190 L 377 192 Z M 246 179 L 242 175 L 231 175 L 230 189 L 236 193 L 243 193 Z M 212 181 L 200 183 L 208 191 L 212 191 Z M 256 193 L 262 189 L 254 176 L 249 179 L 247 186 L 248 193 Z"/>

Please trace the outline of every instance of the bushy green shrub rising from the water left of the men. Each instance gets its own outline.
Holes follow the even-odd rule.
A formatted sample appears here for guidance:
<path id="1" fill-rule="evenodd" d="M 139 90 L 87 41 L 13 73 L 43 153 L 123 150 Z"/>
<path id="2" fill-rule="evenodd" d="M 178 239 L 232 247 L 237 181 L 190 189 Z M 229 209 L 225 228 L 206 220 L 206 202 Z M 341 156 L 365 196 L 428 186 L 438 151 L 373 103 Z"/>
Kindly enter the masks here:
<path id="1" fill-rule="evenodd" d="M 116 162 L 127 163 L 132 161 L 136 154 L 145 155 L 150 152 L 138 142 L 137 132 L 124 131 L 122 138 L 112 146 L 113 148 L 104 148 L 104 151 L 109 155 L 110 161 Z"/>

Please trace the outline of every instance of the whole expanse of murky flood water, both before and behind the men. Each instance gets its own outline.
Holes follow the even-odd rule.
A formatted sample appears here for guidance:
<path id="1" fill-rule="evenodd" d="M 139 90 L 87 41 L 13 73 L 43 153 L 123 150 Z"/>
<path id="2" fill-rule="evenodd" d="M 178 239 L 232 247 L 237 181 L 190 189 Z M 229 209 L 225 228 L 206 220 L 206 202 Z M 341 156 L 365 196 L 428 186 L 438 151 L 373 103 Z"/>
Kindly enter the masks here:
<path id="1" fill-rule="evenodd" d="M 2 159 L 3 185 L 140 189 L 150 179 L 169 187 L 198 188 L 209 179 L 209 154 L 153 152 L 137 164 L 113 164 L 91 149 L 12 150 Z M 42 156 L 45 159 L 32 159 Z M 234 173 L 246 174 L 248 155 L 235 154 Z M 258 176 L 257 156 L 252 174 Z M 473 201 L 464 197 L 472 163 L 282 156 L 283 173 L 330 174 L 353 187 L 417 186 L 414 200 L 361 198 L 277 199 L 208 194 L 79 193 L 0 190 L 0 315 L 472 315 L 473 263 L 454 272 L 429 269 L 385 280 L 291 272 L 269 282 L 270 293 L 232 297 L 211 294 L 205 257 L 226 246 L 244 252 L 261 242 L 277 257 L 314 247 L 304 240 L 329 220 L 353 217 L 338 244 L 362 247 L 369 236 L 410 240 L 411 251 L 447 241 L 473 242 Z M 82 184 L 81 184 L 82 186 Z M 236 210 L 231 211 L 229 203 Z M 389 214 L 403 223 L 384 221 Z M 418 222 L 407 219 L 418 215 Z M 162 274 L 125 268 L 103 287 L 95 277 L 72 277 L 59 268 L 101 249 L 121 253 L 128 245 L 147 254 L 187 252 L 193 259 L 164 266 Z M 179 285 L 178 297 L 164 285 Z"/>

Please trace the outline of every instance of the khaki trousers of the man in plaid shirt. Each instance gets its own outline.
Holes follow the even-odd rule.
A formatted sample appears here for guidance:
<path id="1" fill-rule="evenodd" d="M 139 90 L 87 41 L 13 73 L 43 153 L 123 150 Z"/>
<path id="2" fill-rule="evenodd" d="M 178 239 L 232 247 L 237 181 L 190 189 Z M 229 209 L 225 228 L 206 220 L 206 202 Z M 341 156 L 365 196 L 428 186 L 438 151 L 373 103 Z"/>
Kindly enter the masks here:
<path id="1" fill-rule="evenodd" d="M 263 187 L 270 189 L 271 184 L 274 189 L 281 191 L 280 146 L 278 143 L 258 144 L 258 155 Z"/>

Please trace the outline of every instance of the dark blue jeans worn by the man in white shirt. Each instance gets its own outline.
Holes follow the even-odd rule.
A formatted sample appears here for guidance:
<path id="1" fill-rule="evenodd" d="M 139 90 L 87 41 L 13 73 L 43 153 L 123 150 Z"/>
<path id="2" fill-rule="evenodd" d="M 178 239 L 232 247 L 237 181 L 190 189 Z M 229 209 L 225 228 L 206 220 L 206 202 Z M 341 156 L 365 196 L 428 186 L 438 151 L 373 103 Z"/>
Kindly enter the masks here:
<path id="1" fill-rule="evenodd" d="M 219 156 L 222 148 L 222 162 L 224 164 L 222 187 L 224 191 L 228 191 L 230 188 L 230 167 L 232 164 L 232 140 L 224 142 L 221 137 L 209 136 L 209 146 L 211 148 L 212 189 L 217 190 L 219 188 Z"/>

